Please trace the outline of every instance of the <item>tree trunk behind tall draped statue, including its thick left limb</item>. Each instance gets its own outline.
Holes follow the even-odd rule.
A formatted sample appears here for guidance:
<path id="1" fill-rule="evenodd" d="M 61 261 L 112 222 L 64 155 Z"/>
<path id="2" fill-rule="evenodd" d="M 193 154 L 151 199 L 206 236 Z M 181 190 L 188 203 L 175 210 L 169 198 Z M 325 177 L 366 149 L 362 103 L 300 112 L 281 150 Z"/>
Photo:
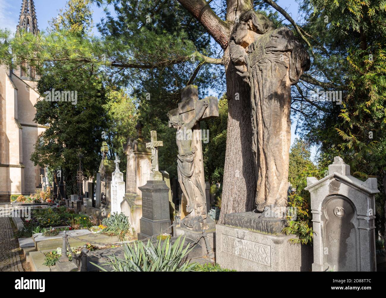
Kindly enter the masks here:
<path id="1" fill-rule="evenodd" d="M 227 0 L 227 17 L 220 20 L 205 0 L 178 0 L 224 50 L 227 81 L 228 127 L 225 153 L 221 223 L 227 213 L 251 211 L 256 196 L 256 164 L 252 152 L 251 91 L 236 74 L 229 56 L 235 20 L 253 9 L 253 0 Z"/>

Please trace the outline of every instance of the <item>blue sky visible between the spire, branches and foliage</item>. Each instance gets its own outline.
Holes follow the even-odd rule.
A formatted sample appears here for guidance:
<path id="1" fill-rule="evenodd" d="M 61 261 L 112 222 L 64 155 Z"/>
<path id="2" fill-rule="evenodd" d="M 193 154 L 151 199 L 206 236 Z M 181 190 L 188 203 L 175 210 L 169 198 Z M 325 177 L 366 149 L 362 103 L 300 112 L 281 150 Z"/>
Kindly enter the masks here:
<path id="1" fill-rule="evenodd" d="M 35 0 L 37 22 L 40 30 L 45 30 L 48 27 L 49 20 L 58 15 L 58 10 L 63 8 L 66 2 L 66 0 Z M 282 8 L 286 9 L 288 14 L 291 15 L 295 21 L 300 19 L 300 16 L 298 15 L 299 5 L 295 0 L 278 0 L 277 3 Z M 0 10 L 0 28 L 7 28 L 12 32 L 15 32 L 16 25 L 19 21 L 21 4 L 22 0 L 0 0 L 0 7 L 2 7 L 2 10 Z M 103 18 L 104 15 L 103 8 L 98 8 L 97 5 L 93 5 L 94 25 L 100 22 L 100 19 Z M 98 34 L 95 27 L 93 32 L 94 34 Z M 213 95 L 221 96 L 216 94 Z M 293 120 L 291 127 L 291 144 L 296 137 L 295 122 Z M 315 147 L 313 147 L 311 151 L 312 157 L 315 157 Z"/>

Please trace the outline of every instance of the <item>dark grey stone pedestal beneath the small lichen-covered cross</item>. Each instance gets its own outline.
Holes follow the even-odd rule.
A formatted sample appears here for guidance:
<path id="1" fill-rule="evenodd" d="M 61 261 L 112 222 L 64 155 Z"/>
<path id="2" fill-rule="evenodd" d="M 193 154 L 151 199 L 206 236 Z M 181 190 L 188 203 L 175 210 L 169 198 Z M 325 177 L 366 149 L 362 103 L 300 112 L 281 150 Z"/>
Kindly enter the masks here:
<path id="1" fill-rule="evenodd" d="M 171 234 L 169 188 L 165 181 L 149 180 L 139 189 L 142 191 L 142 218 L 139 220 L 141 232 L 138 233 L 138 239 Z"/>

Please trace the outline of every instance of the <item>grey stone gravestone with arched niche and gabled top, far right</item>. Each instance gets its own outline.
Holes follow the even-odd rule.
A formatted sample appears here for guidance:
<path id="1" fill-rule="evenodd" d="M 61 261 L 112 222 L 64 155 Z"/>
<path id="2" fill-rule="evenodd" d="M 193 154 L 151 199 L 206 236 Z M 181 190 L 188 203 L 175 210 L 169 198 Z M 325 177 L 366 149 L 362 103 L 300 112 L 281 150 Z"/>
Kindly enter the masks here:
<path id="1" fill-rule="evenodd" d="M 313 215 L 312 271 L 376 271 L 376 178 L 350 175 L 340 157 L 323 179 L 307 178 Z"/>

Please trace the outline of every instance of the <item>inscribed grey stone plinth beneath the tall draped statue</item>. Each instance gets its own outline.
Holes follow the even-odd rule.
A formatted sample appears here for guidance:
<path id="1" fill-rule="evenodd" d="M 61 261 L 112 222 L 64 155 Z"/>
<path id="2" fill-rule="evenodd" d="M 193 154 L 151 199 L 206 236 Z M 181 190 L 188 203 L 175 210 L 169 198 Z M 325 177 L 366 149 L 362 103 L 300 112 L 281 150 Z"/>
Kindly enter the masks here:
<path id="1" fill-rule="evenodd" d="M 271 235 L 216 225 L 216 262 L 237 271 L 311 271 L 312 247 L 290 244 L 295 235 Z"/>

